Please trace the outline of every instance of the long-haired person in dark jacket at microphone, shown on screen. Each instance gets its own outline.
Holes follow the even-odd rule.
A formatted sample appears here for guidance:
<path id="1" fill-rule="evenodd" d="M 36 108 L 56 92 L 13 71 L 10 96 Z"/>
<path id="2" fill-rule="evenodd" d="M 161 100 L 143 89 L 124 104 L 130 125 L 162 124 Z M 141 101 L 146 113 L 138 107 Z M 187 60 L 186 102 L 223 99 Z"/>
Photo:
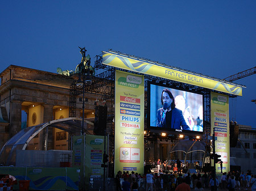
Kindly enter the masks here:
<path id="1" fill-rule="evenodd" d="M 174 96 L 171 91 L 164 89 L 161 96 L 163 108 L 158 109 L 158 121 L 156 126 L 159 128 L 191 130 L 184 120 L 180 109 L 175 108 Z"/>

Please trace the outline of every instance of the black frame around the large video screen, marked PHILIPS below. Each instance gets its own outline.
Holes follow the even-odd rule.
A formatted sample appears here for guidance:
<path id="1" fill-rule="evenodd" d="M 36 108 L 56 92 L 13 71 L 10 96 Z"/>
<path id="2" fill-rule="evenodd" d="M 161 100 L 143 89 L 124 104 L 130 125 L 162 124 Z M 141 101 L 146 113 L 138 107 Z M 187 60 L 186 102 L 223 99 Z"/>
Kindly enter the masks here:
<path id="1" fill-rule="evenodd" d="M 197 94 L 197 95 L 202 95 L 202 106 L 203 106 L 203 131 L 193 131 L 193 130 L 176 130 L 176 129 L 166 129 L 166 128 L 159 128 L 156 126 L 151 126 L 150 124 L 150 119 L 151 119 L 151 84 L 155 86 L 160 86 L 160 87 L 165 87 L 165 88 L 170 88 L 174 90 L 179 90 L 179 91 L 185 91 L 189 92 L 192 94 Z M 199 91 L 193 91 L 193 90 L 188 90 L 188 88 L 183 88 L 183 87 L 177 87 L 176 84 L 163 84 L 163 83 L 156 83 L 152 81 L 147 82 L 147 129 L 149 129 L 152 133 L 167 133 L 167 134 L 183 134 L 187 136 L 196 136 L 196 135 L 203 135 L 205 131 L 205 120 L 204 120 L 204 94 Z"/>

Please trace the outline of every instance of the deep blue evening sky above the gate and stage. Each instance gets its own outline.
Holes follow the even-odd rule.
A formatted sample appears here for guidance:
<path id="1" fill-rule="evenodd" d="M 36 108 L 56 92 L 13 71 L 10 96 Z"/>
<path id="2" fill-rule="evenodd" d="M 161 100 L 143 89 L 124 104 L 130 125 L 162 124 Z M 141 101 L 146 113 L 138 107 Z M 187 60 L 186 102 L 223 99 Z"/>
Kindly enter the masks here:
<path id="1" fill-rule="evenodd" d="M 0 72 L 75 70 L 77 46 L 226 78 L 256 66 L 256 1 L 1 1 Z M 256 128 L 256 74 L 230 99 L 230 120 Z"/>

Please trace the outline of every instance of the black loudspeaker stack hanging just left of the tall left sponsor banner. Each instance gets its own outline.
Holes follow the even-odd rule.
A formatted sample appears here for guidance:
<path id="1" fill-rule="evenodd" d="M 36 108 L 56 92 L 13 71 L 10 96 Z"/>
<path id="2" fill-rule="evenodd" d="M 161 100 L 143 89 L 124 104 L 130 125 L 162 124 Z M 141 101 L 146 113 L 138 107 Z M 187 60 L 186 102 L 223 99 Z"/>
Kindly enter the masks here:
<path id="1" fill-rule="evenodd" d="M 108 108 L 106 106 L 97 105 L 95 108 L 95 118 L 94 118 L 94 129 L 93 133 L 95 135 L 104 135 L 106 129 Z"/>

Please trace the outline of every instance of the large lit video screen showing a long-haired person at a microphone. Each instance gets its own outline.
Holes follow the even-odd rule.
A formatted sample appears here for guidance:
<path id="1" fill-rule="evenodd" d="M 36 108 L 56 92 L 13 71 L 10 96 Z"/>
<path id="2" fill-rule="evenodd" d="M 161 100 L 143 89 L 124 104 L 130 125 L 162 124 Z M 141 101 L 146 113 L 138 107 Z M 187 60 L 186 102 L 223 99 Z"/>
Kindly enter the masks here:
<path id="1" fill-rule="evenodd" d="M 203 133 L 203 95 L 148 82 L 150 129 Z"/>

